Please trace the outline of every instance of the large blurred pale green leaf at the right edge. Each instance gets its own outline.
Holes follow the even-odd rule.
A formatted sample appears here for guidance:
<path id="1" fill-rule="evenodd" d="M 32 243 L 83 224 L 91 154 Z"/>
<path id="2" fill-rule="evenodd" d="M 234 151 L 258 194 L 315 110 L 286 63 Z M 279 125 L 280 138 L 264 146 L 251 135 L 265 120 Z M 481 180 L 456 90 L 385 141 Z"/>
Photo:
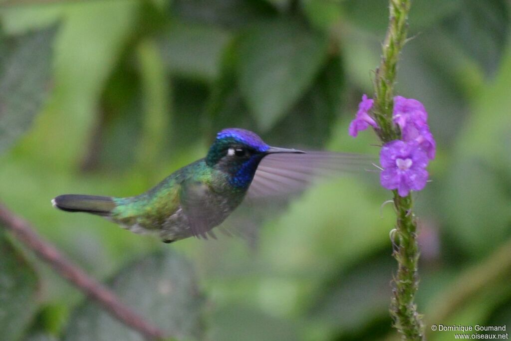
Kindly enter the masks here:
<path id="1" fill-rule="evenodd" d="M 485 84 L 473 100 L 472 115 L 463 126 L 452 157 L 440 206 L 447 230 L 467 254 L 479 257 L 509 236 L 511 158 L 508 96 L 511 54 L 504 57 L 498 77 Z M 481 226 L 490 226 L 483 233 Z"/>

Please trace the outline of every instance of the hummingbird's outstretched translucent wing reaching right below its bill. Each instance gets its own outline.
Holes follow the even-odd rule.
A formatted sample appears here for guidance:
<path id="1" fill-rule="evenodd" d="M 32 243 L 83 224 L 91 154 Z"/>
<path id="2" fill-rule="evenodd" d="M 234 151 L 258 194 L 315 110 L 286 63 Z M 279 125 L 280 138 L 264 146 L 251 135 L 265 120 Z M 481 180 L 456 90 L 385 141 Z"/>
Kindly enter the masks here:
<path id="1" fill-rule="evenodd" d="M 299 193 L 321 177 L 365 172 L 374 168 L 375 161 L 373 156 L 334 152 L 270 154 L 255 171 L 247 198 L 286 197 Z"/>

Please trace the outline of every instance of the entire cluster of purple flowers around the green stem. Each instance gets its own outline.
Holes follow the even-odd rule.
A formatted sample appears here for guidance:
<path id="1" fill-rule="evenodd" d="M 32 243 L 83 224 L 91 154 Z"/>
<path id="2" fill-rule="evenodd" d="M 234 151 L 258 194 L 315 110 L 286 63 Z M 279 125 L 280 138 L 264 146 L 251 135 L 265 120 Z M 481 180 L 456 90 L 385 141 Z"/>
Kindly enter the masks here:
<path id="1" fill-rule="evenodd" d="M 378 124 L 369 111 L 373 100 L 364 94 L 358 112 L 350 124 L 350 135 L 356 137 L 360 130 L 369 126 L 378 129 Z M 436 143 L 427 124 L 428 113 L 417 100 L 394 97 L 392 122 L 401 130 L 401 140 L 393 140 L 383 145 L 380 163 L 381 185 L 387 189 L 397 189 L 401 197 L 410 190 L 421 190 L 426 186 L 429 160 L 435 158 Z"/>

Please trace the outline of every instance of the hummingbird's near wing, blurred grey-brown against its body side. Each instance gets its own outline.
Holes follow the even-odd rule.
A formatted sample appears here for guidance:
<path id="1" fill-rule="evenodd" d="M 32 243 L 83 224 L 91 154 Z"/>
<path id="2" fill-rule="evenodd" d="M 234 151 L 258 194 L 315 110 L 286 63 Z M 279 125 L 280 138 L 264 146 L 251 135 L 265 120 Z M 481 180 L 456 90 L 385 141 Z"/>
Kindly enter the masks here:
<path id="1" fill-rule="evenodd" d="M 212 198 L 211 190 L 202 182 L 184 182 L 181 184 L 179 201 L 195 237 L 207 239 L 216 238 L 211 231 L 222 220 L 222 210 Z"/>

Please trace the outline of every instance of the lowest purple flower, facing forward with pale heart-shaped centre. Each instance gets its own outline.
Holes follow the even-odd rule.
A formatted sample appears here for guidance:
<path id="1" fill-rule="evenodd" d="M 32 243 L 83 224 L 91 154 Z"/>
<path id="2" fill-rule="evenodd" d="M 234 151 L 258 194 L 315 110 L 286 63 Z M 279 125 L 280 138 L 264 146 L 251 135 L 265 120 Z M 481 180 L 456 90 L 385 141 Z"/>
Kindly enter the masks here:
<path id="1" fill-rule="evenodd" d="M 381 185 L 397 189 L 401 197 L 410 190 L 421 190 L 428 180 L 428 156 L 416 141 L 393 140 L 383 145 L 380 163 L 384 168 L 380 174 Z"/>

